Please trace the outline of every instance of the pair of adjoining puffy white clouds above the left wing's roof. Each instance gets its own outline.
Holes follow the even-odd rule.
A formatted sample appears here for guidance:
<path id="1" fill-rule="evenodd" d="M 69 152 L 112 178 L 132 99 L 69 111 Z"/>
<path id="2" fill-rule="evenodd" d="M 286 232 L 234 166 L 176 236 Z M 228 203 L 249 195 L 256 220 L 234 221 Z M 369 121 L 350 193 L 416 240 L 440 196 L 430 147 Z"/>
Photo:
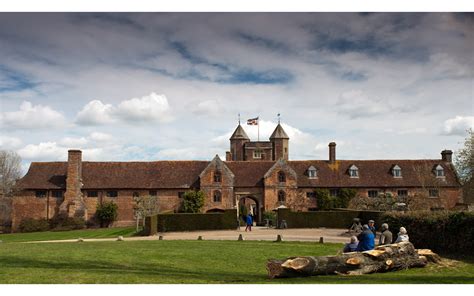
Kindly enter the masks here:
<path id="1" fill-rule="evenodd" d="M 152 92 L 148 96 L 122 101 L 117 107 L 93 100 L 79 111 L 76 122 L 79 125 L 103 125 L 116 121 L 164 122 L 171 119 L 169 110 L 166 96 Z"/>

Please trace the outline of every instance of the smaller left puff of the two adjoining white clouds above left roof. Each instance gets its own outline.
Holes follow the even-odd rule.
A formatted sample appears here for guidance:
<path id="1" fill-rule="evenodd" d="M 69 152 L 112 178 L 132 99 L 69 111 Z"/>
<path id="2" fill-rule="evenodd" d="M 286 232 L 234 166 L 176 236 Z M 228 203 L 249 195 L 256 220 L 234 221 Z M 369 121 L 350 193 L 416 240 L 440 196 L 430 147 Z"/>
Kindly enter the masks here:
<path id="1" fill-rule="evenodd" d="M 100 125 L 112 123 L 114 108 L 111 104 L 104 104 L 100 100 L 87 103 L 77 114 L 76 122 L 80 125 Z"/>

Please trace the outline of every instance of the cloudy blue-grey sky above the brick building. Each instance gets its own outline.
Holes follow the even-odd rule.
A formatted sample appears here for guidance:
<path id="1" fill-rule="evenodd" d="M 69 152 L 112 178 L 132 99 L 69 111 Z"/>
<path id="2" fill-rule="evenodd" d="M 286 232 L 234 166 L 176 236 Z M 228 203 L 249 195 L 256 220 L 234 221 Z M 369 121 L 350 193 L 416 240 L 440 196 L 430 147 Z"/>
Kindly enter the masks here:
<path id="1" fill-rule="evenodd" d="M 440 158 L 474 125 L 473 13 L 0 13 L 0 149 L 211 160 L 242 124 L 290 159 Z"/>

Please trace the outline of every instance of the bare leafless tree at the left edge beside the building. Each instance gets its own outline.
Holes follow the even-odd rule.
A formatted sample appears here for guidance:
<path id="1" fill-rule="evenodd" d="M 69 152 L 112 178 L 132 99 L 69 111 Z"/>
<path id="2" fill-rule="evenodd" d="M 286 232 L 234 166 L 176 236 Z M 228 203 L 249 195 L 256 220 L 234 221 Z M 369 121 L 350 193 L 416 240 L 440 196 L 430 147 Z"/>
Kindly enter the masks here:
<path id="1" fill-rule="evenodd" d="M 13 151 L 0 150 L 0 190 L 2 195 L 11 196 L 15 183 L 20 177 L 20 156 Z"/>

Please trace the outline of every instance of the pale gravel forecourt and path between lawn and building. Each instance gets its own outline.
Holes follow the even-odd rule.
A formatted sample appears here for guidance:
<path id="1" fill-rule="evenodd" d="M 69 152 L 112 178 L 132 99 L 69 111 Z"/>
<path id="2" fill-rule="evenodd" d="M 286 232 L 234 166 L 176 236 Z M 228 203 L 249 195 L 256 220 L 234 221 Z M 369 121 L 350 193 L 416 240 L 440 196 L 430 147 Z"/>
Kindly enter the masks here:
<path id="1" fill-rule="evenodd" d="M 126 237 L 125 241 L 132 240 L 157 240 L 163 236 L 164 240 L 196 240 L 199 236 L 203 240 L 237 240 L 242 234 L 244 240 L 266 240 L 274 241 L 277 235 L 281 235 L 284 241 L 319 241 L 323 237 L 324 242 L 345 243 L 349 236 L 345 229 L 332 228 L 305 228 L 305 229 L 274 229 L 266 227 L 252 227 L 252 231 L 245 232 L 245 227 L 240 230 L 207 230 L 188 232 L 164 232 L 155 236 Z M 117 238 L 84 239 L 84 241 L 113 241 Z M 73 240 L 56 240 L 48 242 L 71 242 Z"/>

